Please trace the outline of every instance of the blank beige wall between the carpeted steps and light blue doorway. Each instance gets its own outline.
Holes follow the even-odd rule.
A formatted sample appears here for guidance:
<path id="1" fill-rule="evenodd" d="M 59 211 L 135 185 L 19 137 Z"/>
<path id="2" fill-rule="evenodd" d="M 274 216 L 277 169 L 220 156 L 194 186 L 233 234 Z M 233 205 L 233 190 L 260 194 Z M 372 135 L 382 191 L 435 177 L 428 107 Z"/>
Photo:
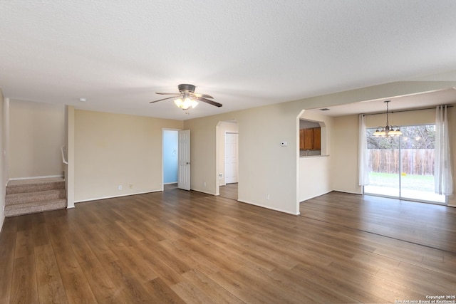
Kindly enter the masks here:
<path id="1" fill-rule="evenodd" d="M 74 116 L 76 202 L 162 189 L 162 128 L 182 129 L 182 121 L 85 110 Z"/>

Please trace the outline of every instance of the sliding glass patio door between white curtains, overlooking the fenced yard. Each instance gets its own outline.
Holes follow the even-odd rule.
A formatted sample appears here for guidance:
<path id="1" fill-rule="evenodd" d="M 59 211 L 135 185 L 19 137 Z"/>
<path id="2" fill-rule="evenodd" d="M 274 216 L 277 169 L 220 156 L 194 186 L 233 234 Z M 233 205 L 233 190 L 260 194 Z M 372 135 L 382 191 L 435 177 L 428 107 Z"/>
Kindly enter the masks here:
<path id="1" fill-rule="evenodd" d="M 403 136 L 373 137 L 368 129 L 370 184 L 365 194 L 445 203 L 434 193 L 435 125 L 401 127 Z"/>

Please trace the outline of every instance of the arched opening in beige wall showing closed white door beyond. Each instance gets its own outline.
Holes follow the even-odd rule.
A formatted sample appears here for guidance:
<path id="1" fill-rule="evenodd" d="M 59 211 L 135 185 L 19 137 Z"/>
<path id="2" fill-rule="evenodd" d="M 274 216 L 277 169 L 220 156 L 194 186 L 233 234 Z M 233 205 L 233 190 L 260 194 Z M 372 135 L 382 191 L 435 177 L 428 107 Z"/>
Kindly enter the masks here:
<path id="1" fill-rule="evenodd" d="M 219 122 L 218 181 L 219 195 L 237 200 L 239 174 L 239 130 L 236 121 Z"/>

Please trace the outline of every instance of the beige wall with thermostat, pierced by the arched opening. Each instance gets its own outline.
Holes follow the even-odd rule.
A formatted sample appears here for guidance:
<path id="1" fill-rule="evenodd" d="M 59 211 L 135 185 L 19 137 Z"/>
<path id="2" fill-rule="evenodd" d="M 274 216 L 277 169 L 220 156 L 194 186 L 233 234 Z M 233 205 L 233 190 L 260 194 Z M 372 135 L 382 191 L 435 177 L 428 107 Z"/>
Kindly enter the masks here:
<path id="1" fill-rule="evenodd" d="M 236 120 L 239 127 L 239 201 L 298 214 L 296 130 L 299 112 L 283 105 L 186 120 L 191 132 L 194 190 L 217 193 L 217 124 Z M 293 119 L 291 119 L 293 117 Z M 286 141 L 288 147 L 281 147 Z M 206 182 L 207 187 L 204 187 Z"/>

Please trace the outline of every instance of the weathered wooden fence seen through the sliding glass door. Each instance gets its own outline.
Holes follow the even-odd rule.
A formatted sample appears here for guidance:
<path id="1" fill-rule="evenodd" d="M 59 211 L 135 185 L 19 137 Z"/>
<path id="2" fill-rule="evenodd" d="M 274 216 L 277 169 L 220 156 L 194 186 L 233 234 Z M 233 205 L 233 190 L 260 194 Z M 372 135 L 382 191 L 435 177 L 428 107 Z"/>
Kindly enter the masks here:
<path id="1" fill-rule="evenodd" d="M 402 169 L 399 168 L 399 150 L 368 149 L 369 171 L 434 175 L 434 149 L 401 149 Z"/>

